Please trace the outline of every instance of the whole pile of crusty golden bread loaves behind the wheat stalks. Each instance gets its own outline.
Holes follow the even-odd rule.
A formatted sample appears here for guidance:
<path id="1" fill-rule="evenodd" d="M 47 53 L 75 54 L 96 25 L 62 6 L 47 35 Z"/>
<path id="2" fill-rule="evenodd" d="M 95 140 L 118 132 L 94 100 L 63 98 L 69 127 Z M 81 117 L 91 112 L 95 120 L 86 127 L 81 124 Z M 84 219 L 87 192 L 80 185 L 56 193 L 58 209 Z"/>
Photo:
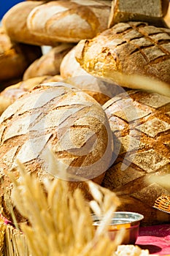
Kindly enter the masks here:
<path id="1" fill-rule="evenodd" d="M 142 213 L 145 225 L 169 221 L 152 208 L 169 192 L 149 181 L 170 168 L 168 7 L 168 0 L 23 1 L 4 15 L 0 195 L 7 218 L 15 211 L 25 220 L 12 206 L 7 176 L 18 178 L 18 160 L 40 180 L 66 178 L 48 173 L 52 150 L 72 189 L 78 184 L 88 195 L 82 180 L 93 179 L 117 192 L 120 210 Z M 8 86 L 15 78 L 20 83 Z"/>

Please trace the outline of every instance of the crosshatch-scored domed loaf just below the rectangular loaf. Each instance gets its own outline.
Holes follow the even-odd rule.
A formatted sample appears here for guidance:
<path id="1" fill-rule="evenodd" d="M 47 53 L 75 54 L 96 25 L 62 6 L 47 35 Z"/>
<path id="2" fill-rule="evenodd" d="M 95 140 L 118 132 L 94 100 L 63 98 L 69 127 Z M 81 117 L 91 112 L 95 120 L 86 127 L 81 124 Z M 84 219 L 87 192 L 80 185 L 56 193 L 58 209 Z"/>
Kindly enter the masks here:
<path id="1" fill-rule="evenodd" d="M 119 74 L 143 75 L 170 84 L 170 29 L 142 22 L 118 23 L 81 40 L 75 53 L 91 75 L 117 81 Z M 118 80 L 120 86 L 127 86 Z"/>

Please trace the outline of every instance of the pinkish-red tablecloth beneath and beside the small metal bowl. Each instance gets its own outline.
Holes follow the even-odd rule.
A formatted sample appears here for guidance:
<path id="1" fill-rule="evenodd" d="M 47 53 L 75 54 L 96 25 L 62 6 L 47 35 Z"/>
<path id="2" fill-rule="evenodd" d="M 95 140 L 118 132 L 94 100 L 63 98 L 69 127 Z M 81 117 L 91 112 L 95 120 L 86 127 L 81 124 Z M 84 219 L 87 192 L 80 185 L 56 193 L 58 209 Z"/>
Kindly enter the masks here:
<path id="1" fill-rule="evenodd" d="M 170 255 L 170 224 L 139 227 L 136 245 L 152 255 Z"/>

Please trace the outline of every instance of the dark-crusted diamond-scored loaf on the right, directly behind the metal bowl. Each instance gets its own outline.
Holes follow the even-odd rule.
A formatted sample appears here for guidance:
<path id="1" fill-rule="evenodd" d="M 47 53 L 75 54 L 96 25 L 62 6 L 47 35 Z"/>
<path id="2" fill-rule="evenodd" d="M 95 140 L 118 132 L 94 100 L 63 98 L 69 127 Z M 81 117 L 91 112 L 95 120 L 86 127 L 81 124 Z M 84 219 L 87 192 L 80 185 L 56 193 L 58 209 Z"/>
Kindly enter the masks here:
<path id="1" fill-rule="evenodd" d="M 115 135 L 115 162 L 102 185 L 122 198 L 117 211 L 143 214 L 143 225 L 169 222 L 169 214 L 152 208 L 169 189 L 149 178 L 170 171 L 170 97 L 131 90 L 103 108 Z"/>

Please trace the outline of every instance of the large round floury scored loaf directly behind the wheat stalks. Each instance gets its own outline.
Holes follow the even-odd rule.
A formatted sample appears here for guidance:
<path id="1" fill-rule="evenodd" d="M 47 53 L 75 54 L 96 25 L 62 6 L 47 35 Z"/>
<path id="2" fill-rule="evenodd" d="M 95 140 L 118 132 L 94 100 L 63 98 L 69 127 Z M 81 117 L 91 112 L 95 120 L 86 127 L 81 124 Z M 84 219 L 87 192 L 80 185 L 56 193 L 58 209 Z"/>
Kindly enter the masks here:
<path id="1" fill-rule="evenodd" d="M 112 132 L 101 105 L 61 82 L 37 86 L 10 105 L 0 117 L 0 141 L 0 195 L 8 218 L 11 183 L 6 173 L 18 178 L 17 161 L 40 181 L 68 178 L 72 188 L 83 187 L 85 179 L 101 184 L 112 161 Z M 51 148 L 68 176 L 48 169 Z"/>

